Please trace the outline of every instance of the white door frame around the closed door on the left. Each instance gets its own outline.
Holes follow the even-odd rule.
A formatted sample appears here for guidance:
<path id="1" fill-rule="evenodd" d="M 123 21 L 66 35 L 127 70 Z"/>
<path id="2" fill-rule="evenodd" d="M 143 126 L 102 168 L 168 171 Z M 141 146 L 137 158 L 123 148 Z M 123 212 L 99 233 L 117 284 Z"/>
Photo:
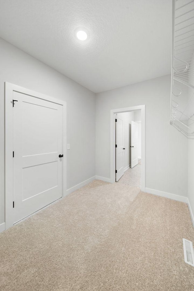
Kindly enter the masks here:
<path id="1" fill-rule="evenodd" d="M 5 82 L 5 229 L 13 226 L 13 92 L 19 92 L 38 99 L 43 99 L 52 103 L 62 105 L 62 148 L 63 159 L 62 165 L 62 197 L 66 194 L 66 165 L 67 165 L 67 151 L 66 151 L 66 102 L 54 97 L 44 95 L 26 89 L 24 87 Z"/>

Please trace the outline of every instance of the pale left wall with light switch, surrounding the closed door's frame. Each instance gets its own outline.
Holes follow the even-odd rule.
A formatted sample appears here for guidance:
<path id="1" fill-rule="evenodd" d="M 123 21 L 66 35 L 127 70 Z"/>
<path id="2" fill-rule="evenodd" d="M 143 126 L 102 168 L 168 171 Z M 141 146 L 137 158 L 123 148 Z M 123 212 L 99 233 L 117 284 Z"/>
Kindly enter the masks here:
<path id="1" fill-rule="evenodd" d="M 95 94 L 0 38 L 0 224 L 4 222 L 4 82 L 67 102 L 67 189 L 95 176 Z M 65 64 L 64 64 L 65 65 Z"/>

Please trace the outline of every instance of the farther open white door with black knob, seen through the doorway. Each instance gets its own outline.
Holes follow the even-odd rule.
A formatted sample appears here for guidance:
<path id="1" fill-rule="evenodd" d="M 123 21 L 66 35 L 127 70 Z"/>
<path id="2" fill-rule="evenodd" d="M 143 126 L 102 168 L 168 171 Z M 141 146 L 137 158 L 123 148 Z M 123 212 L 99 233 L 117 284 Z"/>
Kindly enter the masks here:
<path id="1" fill-rule="evenodd" d="M 138 164 L 138 123 L 131 122 L 131 168 Z"/>

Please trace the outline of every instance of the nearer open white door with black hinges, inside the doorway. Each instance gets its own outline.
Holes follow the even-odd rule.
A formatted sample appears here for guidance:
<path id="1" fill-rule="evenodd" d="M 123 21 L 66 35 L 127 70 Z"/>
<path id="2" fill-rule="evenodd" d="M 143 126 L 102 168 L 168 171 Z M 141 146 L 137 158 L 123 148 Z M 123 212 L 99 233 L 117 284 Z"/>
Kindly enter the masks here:
<path id="1" fill-rule="evenodd" d="M 116 182 L 124 174 L 124 145 L 123 145 L 123 120 L 117 118 L 116 122 Z"/>

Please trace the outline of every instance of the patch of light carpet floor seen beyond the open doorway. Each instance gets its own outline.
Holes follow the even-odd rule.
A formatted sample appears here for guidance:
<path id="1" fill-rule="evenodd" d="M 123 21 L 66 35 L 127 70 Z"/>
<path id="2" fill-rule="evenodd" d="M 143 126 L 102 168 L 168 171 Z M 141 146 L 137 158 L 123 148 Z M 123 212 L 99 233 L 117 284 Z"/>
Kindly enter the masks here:
<path id="1" fill-rule="evenodd" d="M 132 187 L 141 188 L 141 164 L 136 165 L 132 169 L 129 168 L 126 170 L 118 182 Z"/>

